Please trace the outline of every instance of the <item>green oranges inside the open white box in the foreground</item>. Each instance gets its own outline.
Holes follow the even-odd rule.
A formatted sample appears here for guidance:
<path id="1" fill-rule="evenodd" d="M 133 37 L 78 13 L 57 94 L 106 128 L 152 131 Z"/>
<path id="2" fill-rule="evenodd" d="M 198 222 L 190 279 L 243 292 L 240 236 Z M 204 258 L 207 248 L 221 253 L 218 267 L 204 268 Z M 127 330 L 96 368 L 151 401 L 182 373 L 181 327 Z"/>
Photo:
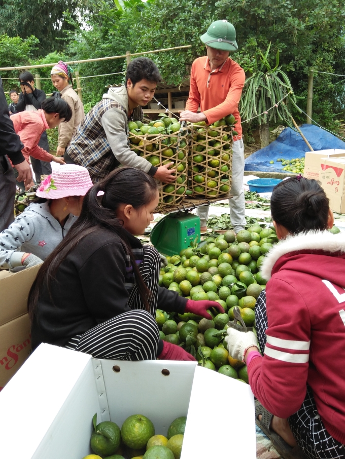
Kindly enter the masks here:
<path id="1" fill-rule="evenodd" d="M 127 417 L 121 429 L 111 421 L 97 424 L 95 414 L 90 440 L 95 454 L 83 459 L 180 459 L 186 419 L 176 418 L 165 437 L 155 435 L 153 423 L 142 414 Z"/>

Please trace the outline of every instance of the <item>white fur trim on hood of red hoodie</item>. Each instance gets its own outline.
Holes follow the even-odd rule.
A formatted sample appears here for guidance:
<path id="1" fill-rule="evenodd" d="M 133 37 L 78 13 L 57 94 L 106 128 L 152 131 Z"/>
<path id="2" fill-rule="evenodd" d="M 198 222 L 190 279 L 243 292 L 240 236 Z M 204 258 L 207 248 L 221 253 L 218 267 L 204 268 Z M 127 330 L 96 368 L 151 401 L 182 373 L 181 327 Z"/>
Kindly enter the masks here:
<path id="1" fill-rule="evenodd" d="M 325 252 L 345 252 L 345 233 L 332 234 L 329 231 L 308 231 L 282 239 L 268 252 L 261 274 L 268 281 L 274 264 L 280 257 L 299 250 L 323 250 Z"/>

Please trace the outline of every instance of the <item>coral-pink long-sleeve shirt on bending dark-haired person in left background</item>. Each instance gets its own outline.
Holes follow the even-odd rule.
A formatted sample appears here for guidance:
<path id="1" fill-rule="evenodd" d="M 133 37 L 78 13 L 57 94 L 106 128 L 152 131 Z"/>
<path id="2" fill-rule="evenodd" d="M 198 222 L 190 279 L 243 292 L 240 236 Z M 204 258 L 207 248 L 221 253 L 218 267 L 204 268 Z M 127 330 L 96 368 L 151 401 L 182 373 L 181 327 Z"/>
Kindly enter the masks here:
<path id="1" fill-rule="evenodd" d="M 53 155 L 41 148 L 38 143 L 42 133 L 49 129 L 43 110 L 37 111 L 20 111 L 11 116 L 14 130 L 19 135 L 20 140 L 24 144 L 22 154 L 27 162 L 29 156 L 42 161 L 50 162 Z"/>

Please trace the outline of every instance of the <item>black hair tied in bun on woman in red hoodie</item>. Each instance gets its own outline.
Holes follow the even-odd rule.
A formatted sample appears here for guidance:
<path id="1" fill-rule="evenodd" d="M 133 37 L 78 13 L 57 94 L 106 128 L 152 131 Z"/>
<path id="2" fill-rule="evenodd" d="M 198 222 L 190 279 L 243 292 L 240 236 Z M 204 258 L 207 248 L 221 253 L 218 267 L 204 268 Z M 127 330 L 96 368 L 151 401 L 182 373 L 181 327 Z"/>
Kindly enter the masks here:
<path id="1" fill-rule="evenodd" d="M 273 188 L 272 218 L 292 234 L 326 230 L 328 211 L 329 200 L 317 180 L 291 177 Z"/>

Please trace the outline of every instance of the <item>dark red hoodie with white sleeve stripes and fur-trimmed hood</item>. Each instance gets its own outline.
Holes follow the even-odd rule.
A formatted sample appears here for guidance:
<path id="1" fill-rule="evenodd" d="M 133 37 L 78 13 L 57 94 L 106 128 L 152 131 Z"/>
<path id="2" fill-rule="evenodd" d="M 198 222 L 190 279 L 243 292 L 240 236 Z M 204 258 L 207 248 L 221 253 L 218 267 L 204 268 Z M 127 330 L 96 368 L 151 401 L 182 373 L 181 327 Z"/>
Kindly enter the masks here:
<path id="1" fill-rule="evenodd" d="M 275 245 L 261 267 L 268 329 L 249 364 L 254 395 L 287 418 L 312 388 L 328 433 L 345 443 L 345 234 L 309 231 Z"/>

